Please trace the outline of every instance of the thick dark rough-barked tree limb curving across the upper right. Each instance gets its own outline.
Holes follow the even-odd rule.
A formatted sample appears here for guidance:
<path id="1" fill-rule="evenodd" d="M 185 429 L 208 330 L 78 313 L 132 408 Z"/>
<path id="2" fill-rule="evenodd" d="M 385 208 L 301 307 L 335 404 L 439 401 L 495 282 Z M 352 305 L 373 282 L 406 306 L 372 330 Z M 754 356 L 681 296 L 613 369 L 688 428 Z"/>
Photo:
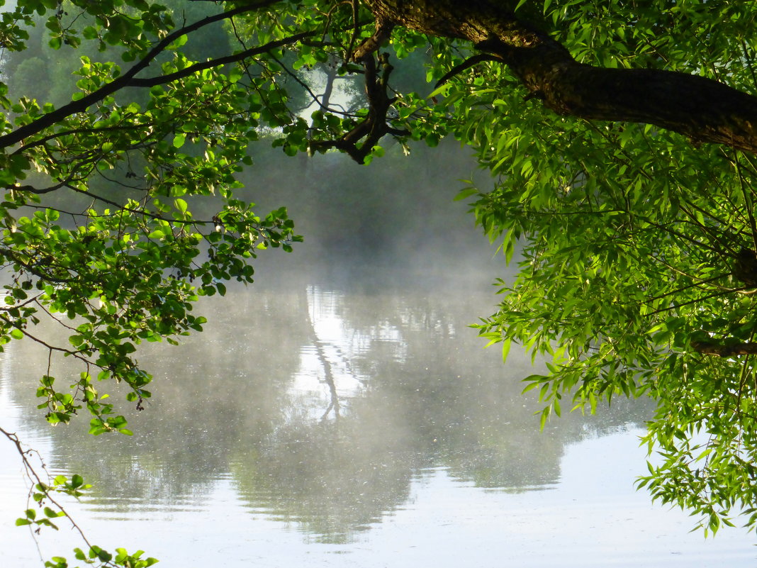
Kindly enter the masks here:
<path id="1" fill-rule="evenodd" d="M 367 0 L 375 17 L 433 36 L 464 39 L 509 65 L 558 114 L 650 123 L 693 142 L 757 154 L 757 97 L 724 83 L 656 69 L 581 64 L 547 33 L 492 0 Z"/>

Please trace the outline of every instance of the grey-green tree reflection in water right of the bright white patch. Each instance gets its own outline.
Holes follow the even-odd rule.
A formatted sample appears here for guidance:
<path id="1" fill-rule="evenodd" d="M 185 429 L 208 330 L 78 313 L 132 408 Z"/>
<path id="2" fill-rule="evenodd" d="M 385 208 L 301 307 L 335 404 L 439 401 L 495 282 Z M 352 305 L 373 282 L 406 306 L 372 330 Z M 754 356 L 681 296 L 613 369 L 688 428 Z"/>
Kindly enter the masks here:
<path id="1" fill-rule="evenodd" d="M 353 402 L 354 412 L 383 407 L 386 416 L 401 417 L 419 451 L 434 454 L 463 481 L 512 489 L 556 482 L 565 445 L 639 425 L 651 410 L 650 404 L 618 400 L 612 412 L 568 414 L 539 432 L 533 413 L 540 406 L 521 394 L 519 382 L 534 368 L 515 350 L 503 367 L 496 347 L 482 349 L 475 331 L 466 328 L 472 314 L 485 310 L 475 301 L 450 302 L 450 295 L 347 298 L 354 301 L 344 305 L 345 320 L 368 335 L 382 326 L 400 329 L 407 349 L 403 359 L 373 357 L 371 351 L 356 358 L 355 367 L 372 379 L 366 396 Z"/>

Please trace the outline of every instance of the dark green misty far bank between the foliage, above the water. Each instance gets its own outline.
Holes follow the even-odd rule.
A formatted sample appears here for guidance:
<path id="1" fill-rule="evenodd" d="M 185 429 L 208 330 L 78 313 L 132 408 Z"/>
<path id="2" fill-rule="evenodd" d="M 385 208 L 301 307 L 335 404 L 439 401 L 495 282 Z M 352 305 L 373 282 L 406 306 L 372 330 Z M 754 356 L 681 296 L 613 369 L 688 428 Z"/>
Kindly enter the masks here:
<path id="1" fill-rule="evenodd" d="M 259 277 L 304 274 L 330 285 L 374 280 L 433 289 L 464 279 L 484 290 L 496 276 L 512 273 L 503 257 L 494 257 L 496 247 L 475 226 L 469 205 L 453 201 L 463 179 L 482 177 L 466 149 L 450 140 L 438 148 L 415 146 L 408 157 L 390 145 L 387 154 L 369 167 L 341 154 L 256 158 L 240 195 L 260 214 L 285 205 L 305 237 L 291 255 L 261 254 Z M 266 270 L 269 262 L 273 270 Z"/>

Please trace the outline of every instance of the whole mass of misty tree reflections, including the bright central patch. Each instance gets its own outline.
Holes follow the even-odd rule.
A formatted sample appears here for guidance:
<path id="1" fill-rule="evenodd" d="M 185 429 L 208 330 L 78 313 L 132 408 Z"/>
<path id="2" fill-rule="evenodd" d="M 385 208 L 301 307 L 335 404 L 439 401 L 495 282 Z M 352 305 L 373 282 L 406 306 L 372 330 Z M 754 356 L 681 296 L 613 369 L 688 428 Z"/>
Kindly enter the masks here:
<path id="1" fill-rule="evenodd" d="M 426 291 L 334 291 L 301 286 L 233 290 L 199 311 L 210 325 L 180 348 L 150 345 L 156 379 L 132 438 L 50 429 L 51 467 L 83 473 L 100 518 L 201 510 L 230 482 L 255 515 L 346 543 L 407 507 L 414 481 L 444 471 L 500 492 L 550 488 L 564 448 L 640 424 L 648 404 L 600 417 L 572 414 L 538 431 L 537 404 L 521 395 L 530 360 L 503 367 L 467 326 L 491 298 Z M 36 345 L 14 342 L 4 389 L 33 407 L 44 372 Z M 56 363 L 55 373 L 78 372 Z M 12 377 L 9 380 L 8 377 Z M 114 397 L 115 398 L 115 397 Z"/>

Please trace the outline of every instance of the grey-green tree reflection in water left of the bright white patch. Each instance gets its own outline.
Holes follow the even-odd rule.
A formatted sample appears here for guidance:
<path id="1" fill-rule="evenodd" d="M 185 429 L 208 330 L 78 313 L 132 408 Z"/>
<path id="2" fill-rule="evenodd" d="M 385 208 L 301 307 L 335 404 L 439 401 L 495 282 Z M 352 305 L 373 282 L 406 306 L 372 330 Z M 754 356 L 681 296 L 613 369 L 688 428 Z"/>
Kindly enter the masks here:
<path id="1" fill-rule="evenodd" d="M 281 420 L 298 364 L 296 357 L 281 355 L 297 354 L 307 342 L 300 302 L 298 294 L 273 298 L 250 289 L 229 291 L 200 307 L 210 320 L 201 335 L 185 338 L 179 348 L 145 346 L 139 360 L 154 373 L 145 410 L 137 412 L 110 389 L 133 436 L 86 435 L 84 414 L 70 426 L 51 429 L 40 411 L 29 410 L 25 426 L 52 436 L 51 466 L 87 477 L 103 499 L 88 501 L 97 508 L 117 507 L 118 501 L 198 503 L 228 473 L 231 446 L 243 435 L 264 437 Z M 217 307 L 223 311 L 213 312 Z M 237 320 L 243 324 L 236 326 Z M 27 342 L 12 347 L 14 360 L 23 362 L 14 366 L 12 396 L 33 409 L 46 356 Z M 62 384 L 66 372 L 81 370 L 68 360 L 55 369 Z"/>

